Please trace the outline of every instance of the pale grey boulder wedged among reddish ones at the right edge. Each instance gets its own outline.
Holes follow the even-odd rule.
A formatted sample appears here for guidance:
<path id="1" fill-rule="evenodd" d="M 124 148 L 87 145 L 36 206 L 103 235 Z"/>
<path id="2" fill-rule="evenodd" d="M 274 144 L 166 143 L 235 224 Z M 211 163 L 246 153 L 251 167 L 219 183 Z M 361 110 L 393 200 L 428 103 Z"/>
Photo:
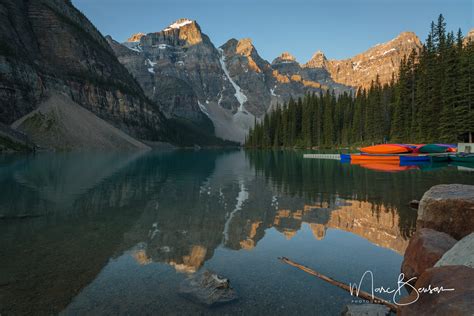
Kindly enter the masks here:
<path id="1" fill-rule="evenodd" d="M 435 267 L 454 265 L 474 268 L 474 233 L 458 241 L 436 262 Z"/>

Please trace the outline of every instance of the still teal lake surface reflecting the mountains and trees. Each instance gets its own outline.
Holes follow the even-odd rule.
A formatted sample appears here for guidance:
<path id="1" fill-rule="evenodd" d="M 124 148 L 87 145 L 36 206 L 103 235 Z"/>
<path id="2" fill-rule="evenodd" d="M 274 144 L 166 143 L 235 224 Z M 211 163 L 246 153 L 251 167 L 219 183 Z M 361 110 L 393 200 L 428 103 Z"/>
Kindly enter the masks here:
<path id="1" fill-rule="evenodd" d="M 338 315 L 348 293 L 277 257 L 396 287 L 416 225 L 408 202 L 474 182 L 465 167 L 405 169 L 294 151 L 0 156 L 0 314 Z M 202 269 L 239 300 L 181 297 Z"/>

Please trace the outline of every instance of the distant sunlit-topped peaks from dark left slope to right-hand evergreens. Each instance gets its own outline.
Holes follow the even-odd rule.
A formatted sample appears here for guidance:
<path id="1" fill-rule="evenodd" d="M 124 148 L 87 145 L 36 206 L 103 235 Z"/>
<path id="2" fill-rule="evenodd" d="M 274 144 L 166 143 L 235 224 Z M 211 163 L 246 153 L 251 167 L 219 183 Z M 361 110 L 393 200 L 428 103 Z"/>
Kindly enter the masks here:
<path id="1" fill-rule="evenodd" d="M 411 32 L 346 60 L 317 52 L 305 64 L 284 52 L 271 63 L 249 38 L 214 46 L 196 21 L 179 19 L 162 31 L 137 33 L 119 44 L 107 37 L 119 61 L 162 104 L 167 117 L 203 124 L 210 119 L 216 136 L 242 142 L 254 121 L 278 104 L 306 93 L 354 93 L 379 76 L 388 83 L 403 56 L 421 49 Z M 124 49 L 127 48 L 127 49 Z"/>

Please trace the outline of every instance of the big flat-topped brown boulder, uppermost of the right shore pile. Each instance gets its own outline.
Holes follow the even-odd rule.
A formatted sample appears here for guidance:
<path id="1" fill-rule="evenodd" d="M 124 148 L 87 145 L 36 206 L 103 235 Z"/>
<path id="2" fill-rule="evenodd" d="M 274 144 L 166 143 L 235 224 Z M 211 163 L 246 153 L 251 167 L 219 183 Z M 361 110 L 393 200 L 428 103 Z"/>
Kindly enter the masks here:
<path id="1" fill-rule="evenodd" d="M 441 184 L 420 201 L 417 228 L 432 228 L 456 239 L 474 232 L 474 186 Z"/>

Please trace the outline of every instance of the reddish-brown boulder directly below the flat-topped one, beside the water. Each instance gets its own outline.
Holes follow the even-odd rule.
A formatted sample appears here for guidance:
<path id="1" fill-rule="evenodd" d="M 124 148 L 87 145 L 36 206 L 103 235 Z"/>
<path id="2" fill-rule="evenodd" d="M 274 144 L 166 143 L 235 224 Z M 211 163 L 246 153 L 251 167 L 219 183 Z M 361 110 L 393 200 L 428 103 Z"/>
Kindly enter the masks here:
<path id="1" fill-rule="evenodd" d="M 418 230 L 410 239 L 403 258 L 402 272 L 405 279 L 418 278 L 426 269 L 432 268 L 455 244 L 456 239 L 446 233 L 429 228 Z"/>

